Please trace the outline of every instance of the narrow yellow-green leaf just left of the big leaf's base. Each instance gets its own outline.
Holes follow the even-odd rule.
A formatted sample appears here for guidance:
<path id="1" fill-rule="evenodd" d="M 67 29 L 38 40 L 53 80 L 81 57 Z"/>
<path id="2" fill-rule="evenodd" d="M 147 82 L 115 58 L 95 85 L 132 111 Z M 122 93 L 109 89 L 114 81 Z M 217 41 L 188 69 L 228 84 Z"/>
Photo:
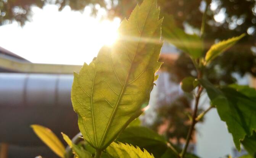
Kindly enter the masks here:
<path id="1" fill-rule="evenodd" d="M 77 158 L 92 158 L 92 155 L 87 152 L 86 150 L 79 148 L 76 144 L 72 142 L 72 140 L 69 139 L 69 137 L 61 133 L 63 136 L 63 139 L 67 142 L 70 148 L 72 148 L 73 153 L 76 155 Z"/>

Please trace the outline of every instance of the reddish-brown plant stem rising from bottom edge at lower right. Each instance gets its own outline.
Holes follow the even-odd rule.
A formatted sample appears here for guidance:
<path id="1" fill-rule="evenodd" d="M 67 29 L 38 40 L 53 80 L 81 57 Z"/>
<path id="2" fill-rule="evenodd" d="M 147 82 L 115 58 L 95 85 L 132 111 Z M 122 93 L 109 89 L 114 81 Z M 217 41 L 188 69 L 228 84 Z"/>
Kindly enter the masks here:
<path id="1" fill-rule="evenodd" d="M 197 92 L 197 95 L 196 95 L 196 98 L 195 98 L 195 109 L 194 109 L 193 116 L 192 116 L 192 124 L 189 128 L 189 131 L 188 131 L 185 147 L 183 148 L 182 152 L 180 153 L 180 158 L 184 158 L 184 156 L 187 152 L 188 144 L 190 142 L 190 138 L 191 138 L 193 129 L 194 129 L 195 124 L 196 124 L 196 112 L 197 112 L 197 109 L 198 109 L 198 103 L 199 103 L 199 99 L 200 99 L 200 95 L 201 95 L 202 91 L 203 91 L 203 87 L 198 86 L 198 92 Z"/>

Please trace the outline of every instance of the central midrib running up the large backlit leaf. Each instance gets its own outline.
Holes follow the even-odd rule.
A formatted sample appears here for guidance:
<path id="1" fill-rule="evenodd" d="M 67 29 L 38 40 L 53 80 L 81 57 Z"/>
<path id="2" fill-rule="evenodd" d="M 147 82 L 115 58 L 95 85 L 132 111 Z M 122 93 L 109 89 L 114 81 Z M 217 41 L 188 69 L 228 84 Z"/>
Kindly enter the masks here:
<path id="1" fill-rule="evenodd" d="M 123 94 L 124 94 L 124 91 L 126 90 L 126 87 L 127 87 L 127 85 L 128 85 L 127 82 L 128 82 L 128 80 L 129 80 L 131 68 L 132 68 L 132 65 L 133 65 L 133 63 L 134 63 L 134 58 L 135 58 L 135 56 L 136 56 L 136 54 L 137 54 L 138 45 L 139 45 L 139 43 L 140 43 L 140 38 L 141 38 L 141 35 L 142 35 L 142 33 L 143 33 L 143 30 L 144 30 L 144 27 L 145 27 L 145 23 L 146 23 L 146 21 L 147 21 L 147 19 L 148 19 L 148 14 L 149 14 L 149 12 L 151 11 L 152 3 L 153 3 L 153 1 L 151 1 L 150 9 L 148 10 L 147 16 L 146 16 L 145 21 L 144 21 L 144 24 L 143 24 L 142 32 L 140 32 L 140 30 L 138 29 L 138 32 L 140 33 L 140 37 L 139 37 L 139 40 L 138 40 L 138 43 L 137 43 L 137 46 L 136 46 L 136 49 L 135 49 L 135 53 L 134 53 L 134 56 L 133 56 L 132 61 L 131 61 L 131 64 L 130 64 L 130 67 L 129 67 L 129 72 L 127 73 L 126 80 L 125 80 L 124 85 L 123 85 L 123 87 L 122 87 L 122 91 L 121 91 L 121 93 L 120 93 L 120 95 L 119 95 L 118 101 L 116 102 L 116 105 L 115 105 L 115 107 L 114 107 L 114 111 L 113 111 L 113 113 L 111 114 L 111 117 L 110 117 L 110 119 L 109 119 L 109 121 L 108 121 L 108 126 L 106 127 L 106 129 L 105 129 L 105 131 L 104 131 L 104 134 L 103 134 L 103 137 L 102 137 L 102 139 L 101 139 L 100 145 L 103 145 L 103 143 L 104 143 L 104 141 L 105 141 L 105 139 L 106 139 L 106 135 L 108 134 L 108 131 L 109 131 L 109 128 L 110 128 L 110 124 L 112 123 L 112 121 L 113 121 L 113 119 L 114 119 L 114 115 L 116 114 L 116 111 L 117 111 L 117 109 L 118 109 L 119 102 L 121 101 L 122 96 L 123 96 Z M 135 18 L 137 19 L 137 14 L 136 14 Z M 136 23 L 137 23 L 137 22 L 136 22 Z M 138 24 L 137 24 L 137 27 L 138 27 Z M 111 60 L 110 54 L 109 54 L 109 57 L 110 57 L 110 60 Z"/>

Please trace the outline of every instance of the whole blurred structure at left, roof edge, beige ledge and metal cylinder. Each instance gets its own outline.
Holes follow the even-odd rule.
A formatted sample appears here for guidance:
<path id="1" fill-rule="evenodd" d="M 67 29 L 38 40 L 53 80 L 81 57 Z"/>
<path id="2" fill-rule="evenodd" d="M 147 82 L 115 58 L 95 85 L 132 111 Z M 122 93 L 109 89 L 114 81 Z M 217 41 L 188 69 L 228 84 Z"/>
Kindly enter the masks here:
<path id="1" fill-rule="evenodd" d="M 35 136 L 31 124 L 46 126 L 59 138 L 61 132 L 71 137 L 79 132 L 70 91 L 72 73 L 80 68 L 80 65 L 34 64 L 0 48 L 1 154 L 5 150 L 8 158 L 56 157 Z"/>

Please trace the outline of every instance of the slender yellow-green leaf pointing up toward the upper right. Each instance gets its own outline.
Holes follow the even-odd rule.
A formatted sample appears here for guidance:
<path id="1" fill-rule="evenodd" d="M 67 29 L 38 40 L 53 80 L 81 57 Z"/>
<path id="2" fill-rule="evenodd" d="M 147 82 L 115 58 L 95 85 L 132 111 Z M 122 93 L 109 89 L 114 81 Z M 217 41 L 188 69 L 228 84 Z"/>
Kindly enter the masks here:
<path id="1" fill-rule="evenodd" d="M 206 64 L 212 61 L 215 57 L 219 56 L 219 54 L 223 53 L 224 51 L 235 45 L 235 43 L 237 43 L 237 41 L 239 41 L 244 36 L 245 34 L 242 34 L 240 36 L 229 38 L 227 40 L 223 40 L 219 43 L 212 45 L 205 56 Z"/>

